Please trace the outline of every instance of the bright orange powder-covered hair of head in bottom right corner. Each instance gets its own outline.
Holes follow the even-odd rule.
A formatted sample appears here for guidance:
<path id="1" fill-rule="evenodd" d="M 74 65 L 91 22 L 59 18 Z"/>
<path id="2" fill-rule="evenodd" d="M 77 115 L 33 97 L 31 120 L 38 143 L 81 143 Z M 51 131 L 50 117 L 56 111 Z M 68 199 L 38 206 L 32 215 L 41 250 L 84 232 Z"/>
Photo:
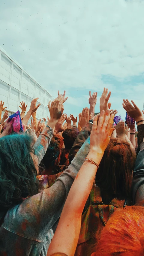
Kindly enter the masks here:
<path id="1" fill-rule="evenodd" d="M 143 256 L 144 207 L 117 209 L 96 239 L 98 243 L 91 256 Z"/>

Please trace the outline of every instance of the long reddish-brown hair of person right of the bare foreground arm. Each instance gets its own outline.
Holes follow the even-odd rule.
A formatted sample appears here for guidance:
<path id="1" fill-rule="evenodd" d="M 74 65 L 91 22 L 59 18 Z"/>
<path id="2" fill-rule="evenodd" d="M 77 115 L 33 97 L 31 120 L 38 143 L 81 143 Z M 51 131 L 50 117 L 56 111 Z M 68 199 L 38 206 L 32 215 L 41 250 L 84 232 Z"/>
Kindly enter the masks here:
<path id="1" fill-rule="evenodd" d="M 101 190 L 117 197 L 130 196 L 135 157 L 127 142 L 110 139 L 96 174 Z"/>

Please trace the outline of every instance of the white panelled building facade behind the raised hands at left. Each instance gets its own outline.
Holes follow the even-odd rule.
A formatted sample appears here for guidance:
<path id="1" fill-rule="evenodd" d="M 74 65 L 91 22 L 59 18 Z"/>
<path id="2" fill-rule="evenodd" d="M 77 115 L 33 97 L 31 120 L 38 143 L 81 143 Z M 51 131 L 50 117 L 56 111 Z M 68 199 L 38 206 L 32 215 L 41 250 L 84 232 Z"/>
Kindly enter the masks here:
<path id="1" fill-rule="evenodd" d="M 47 104 L 53 100 L 52 95 L 0 47 L 0 101 L 4 101 L 9 115 L 21 111 L 22 101 L 28 105 L 27 113 L 34 98 L 41 103 L 37 119 L 49 116 Z"/>

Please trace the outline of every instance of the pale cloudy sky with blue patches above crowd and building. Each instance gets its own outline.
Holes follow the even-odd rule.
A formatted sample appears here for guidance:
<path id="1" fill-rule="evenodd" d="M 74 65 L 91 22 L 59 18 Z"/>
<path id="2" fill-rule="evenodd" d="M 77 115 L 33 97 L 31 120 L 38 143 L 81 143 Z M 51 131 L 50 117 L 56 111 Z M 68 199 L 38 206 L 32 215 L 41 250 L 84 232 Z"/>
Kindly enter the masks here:
<path id="1" fill-rule="evenodd" d="M 1 0 L 0 45 L 78 116 L 104 87 L 125 119 L 123 98 L 144 102 L 144 0 Z"/>

